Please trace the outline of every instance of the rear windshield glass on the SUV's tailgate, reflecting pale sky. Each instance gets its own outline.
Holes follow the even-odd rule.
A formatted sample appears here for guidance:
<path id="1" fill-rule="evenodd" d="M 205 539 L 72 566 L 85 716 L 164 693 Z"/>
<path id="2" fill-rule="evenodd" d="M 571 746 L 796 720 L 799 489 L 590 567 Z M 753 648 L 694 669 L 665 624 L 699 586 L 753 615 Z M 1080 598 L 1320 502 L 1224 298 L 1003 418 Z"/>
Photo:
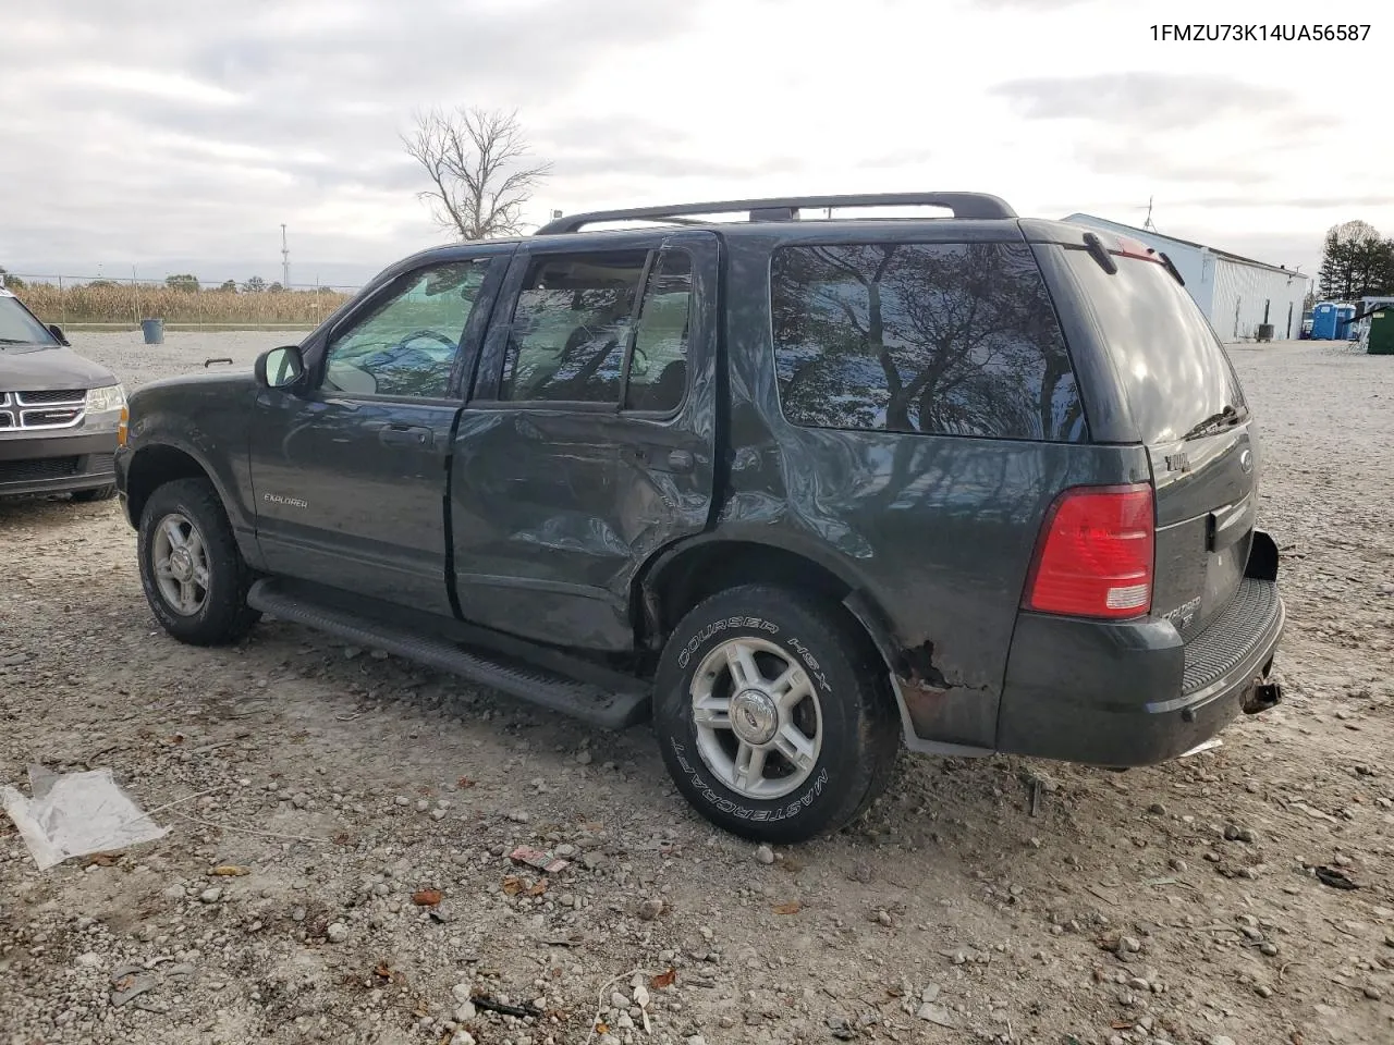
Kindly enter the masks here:
<path id="1" fill-rule="evenodd" d="M 1146 443 L 1210 435 L 1248 414 L 1220 339 L 1165 268 L 1114 256 L 1110 276 L 1087 251 L 1065 252 L 1103 326 Z"/>

